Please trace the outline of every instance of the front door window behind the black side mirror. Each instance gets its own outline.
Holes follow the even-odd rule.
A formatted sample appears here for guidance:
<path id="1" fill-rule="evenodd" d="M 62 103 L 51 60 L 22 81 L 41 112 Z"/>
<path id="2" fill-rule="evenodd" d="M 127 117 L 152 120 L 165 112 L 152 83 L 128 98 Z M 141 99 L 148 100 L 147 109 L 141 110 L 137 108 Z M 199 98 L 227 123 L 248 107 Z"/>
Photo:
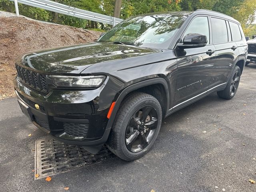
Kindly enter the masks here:
<path id="1" fill-rule="evenodd" d="M 189 33 L 197 33 L 201 35 L 207 36 L 207 44 L 210 42 L 210 32 L 209 32 L 209 24 L 208 24 L 208 18 L 207 17 L 196 17 L 190 25 L 188 26 L 186 32 L 184 33 L 184 36 Z"/>

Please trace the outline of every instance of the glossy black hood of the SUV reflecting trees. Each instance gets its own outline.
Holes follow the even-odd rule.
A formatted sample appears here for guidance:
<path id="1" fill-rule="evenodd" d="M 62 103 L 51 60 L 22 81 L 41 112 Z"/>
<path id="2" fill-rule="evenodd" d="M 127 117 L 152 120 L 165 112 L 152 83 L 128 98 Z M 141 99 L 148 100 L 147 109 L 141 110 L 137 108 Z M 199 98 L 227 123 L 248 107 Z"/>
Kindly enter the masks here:
<path id="1" fill-rule="evenodd" d="M 107 64 L 156 52 L 160 50 L 113 43 L 88 43 L 30 52 L 16 62 L 48 74 L 79 74 L 96 63 Z"/>

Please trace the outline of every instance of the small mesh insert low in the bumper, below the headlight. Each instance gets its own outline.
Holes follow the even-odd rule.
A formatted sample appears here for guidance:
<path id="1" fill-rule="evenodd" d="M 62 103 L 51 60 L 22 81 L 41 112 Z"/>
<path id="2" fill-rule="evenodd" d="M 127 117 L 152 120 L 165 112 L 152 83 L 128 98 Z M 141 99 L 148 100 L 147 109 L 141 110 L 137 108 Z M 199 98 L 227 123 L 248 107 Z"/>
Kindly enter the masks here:
<path id="1" fill-rule="evenodd" d="M 89 129 L 89 124 L 63 123 L 63 128 L 66 134 L 78 137 L 86 137 Z"/>

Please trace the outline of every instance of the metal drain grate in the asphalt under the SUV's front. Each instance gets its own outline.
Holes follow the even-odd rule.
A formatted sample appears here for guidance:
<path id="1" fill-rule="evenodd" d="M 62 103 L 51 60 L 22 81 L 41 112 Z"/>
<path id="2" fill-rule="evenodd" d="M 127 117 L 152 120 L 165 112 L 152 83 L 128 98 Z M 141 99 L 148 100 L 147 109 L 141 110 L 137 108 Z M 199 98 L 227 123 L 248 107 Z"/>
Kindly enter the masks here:
<path id="1" fill-rule="evenodd" d="M 93 155 L 84 148 L 68 145 L 54 139 L 36 140 L 35 179 L 66 172 L 116 157 L 104 145 L 98 154 Z"/>

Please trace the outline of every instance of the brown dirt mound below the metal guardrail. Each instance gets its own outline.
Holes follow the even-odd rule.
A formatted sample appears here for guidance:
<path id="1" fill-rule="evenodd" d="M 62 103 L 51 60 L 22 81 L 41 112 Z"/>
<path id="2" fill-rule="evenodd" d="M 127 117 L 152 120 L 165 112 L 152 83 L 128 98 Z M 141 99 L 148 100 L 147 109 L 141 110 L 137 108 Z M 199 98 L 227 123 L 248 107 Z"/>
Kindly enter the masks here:
<path id="1" fill-rule="evenodd" d="M 24 52 L 93 42 L 101 32 L 48 24 L 23 17 L 0 17 L 0 100 L 14 96 L 15 58 Z"/>

